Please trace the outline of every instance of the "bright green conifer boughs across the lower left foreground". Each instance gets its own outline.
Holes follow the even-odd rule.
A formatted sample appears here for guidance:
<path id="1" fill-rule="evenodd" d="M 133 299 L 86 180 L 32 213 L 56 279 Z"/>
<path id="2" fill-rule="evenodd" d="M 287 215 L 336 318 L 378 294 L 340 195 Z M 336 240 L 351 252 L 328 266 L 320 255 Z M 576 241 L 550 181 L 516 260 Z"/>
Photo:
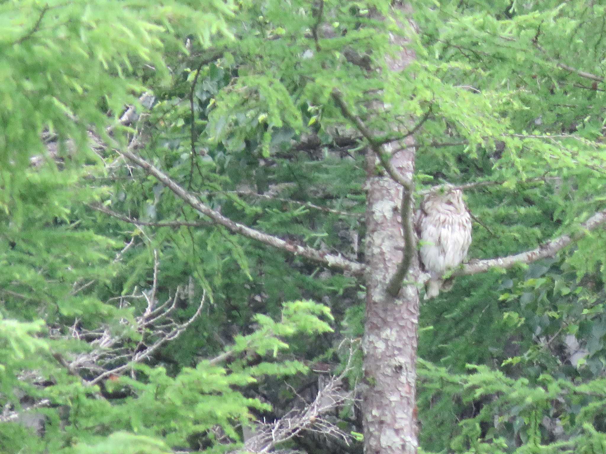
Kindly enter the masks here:
<path id="1" fill-rule="evenodd" d="M 217 427 L 221 427 L 229 439 L 238 441 L 241 438 L 238 427 L 248 424 L 250 409 L 270 409 L 257 398 L 245 397 L 239 389 L 264 377 L 288 377 L 307 372 L 304 364 L 282 360 L 279 352 L 289 349 L 285 340 L 295 335 L 331 331 L 330 326 L 318 317 L 331 320 L 330 311 L 311 301 L 285 304 L 281 321 L 258 315 L 258 330 L 236 338 L 223 358 L 236 357 L 228 367 L 217 365 L 218 360 L 200 361 L 196 367 L 184 367 L 171 377 L 164 367 L 135 364 L 132 378 L 115 378 L 104 384 L 104 392 L 124 395 L 112 401 L 94 398 L 95 389 L 84 387 L 73 379 L 66 381 L 67 377 L 61 377 L 60 372 L 56 375 L 56 367 L 52 372 L 47 370 L 49 366 L 44 366 L 43 360 L 48 344 L 30 334 L 39 331 L 41 323 L 2 321 L 0 335 L 3 343 L 10 347 L 2 351 L 10 356 L 2 357 L 1 392 L 12 396 L 15 395 L 14 387 L 19 386 L 62 406 L 62 412 L 68 413 L 68 422 L 62 424 L 61 431 L 55 426 L 59 424 L 56 410 L 39 410 L 48 418 L 43 441 L 46 446 L 53 447 L 53 452 L 118 453 L 127 448 L 132 452 L 148 452 L 146 449 L 166 452 L 162 449 L 187 446 L 192 439 L 202 441 L 208 436 L 213 439 Z M 249 357 L 253 354 L 267 357 L 267 360 L 250 366 Z M 16 380 L 16 372 L 34 368 L 43 377 L 52 373 L 58 383 L 39 389 Z M 7 424 L 2 429 L 0 440 L 5 449 L 18 450 L 22 439 L 11 435 L 15 427 Z M 59 449 L 66 442 L 72 447 Z M 222 445 L 222 449 L 227 448 Z M 35 446 L 30 449 L 36 452 Z M 42 447 L 38 445 L 36 449 Z"/>

